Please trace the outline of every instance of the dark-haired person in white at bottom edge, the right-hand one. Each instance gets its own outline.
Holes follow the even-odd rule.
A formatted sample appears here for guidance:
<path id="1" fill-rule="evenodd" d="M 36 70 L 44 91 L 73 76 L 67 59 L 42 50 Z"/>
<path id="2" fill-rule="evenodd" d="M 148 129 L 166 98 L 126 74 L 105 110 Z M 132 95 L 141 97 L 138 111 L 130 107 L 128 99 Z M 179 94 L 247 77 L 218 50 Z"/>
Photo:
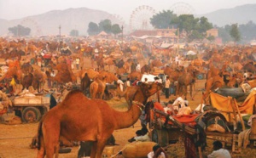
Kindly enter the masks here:
<path id="1" fill-rule="evenodd" d="M 229 150 L 222 148 L 222 143 L 218 140 L 213 142 L 213 151 L 207 158 L 231 158 Z"/>

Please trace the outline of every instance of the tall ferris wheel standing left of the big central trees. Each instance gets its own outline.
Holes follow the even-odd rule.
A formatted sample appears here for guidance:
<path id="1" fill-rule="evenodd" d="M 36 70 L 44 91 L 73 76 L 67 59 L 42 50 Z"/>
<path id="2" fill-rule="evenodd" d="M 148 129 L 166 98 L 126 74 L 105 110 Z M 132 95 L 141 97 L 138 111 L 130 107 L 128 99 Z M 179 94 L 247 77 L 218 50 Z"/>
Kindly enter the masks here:
<path id="1" fill-rule="evenodd" d="M 133 10 L 130 17 L 130 31 L 136 30 L 152 30 L 153 25 L 150 24 L 150 18 L 155 14 L 152 7 L 143 5 Z"/>

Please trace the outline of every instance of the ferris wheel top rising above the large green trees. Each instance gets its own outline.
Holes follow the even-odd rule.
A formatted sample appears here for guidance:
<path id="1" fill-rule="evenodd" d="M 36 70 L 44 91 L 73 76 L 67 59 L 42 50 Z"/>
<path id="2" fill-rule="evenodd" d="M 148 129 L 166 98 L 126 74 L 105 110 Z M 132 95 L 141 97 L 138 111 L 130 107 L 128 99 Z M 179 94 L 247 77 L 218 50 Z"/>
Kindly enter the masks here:
<path id="1" fill-rule="evenodd" d="M 175 3 L 170 10 L 177 16 L 181 14 L 195 14 L 195 9 L 188 3 Z"/>

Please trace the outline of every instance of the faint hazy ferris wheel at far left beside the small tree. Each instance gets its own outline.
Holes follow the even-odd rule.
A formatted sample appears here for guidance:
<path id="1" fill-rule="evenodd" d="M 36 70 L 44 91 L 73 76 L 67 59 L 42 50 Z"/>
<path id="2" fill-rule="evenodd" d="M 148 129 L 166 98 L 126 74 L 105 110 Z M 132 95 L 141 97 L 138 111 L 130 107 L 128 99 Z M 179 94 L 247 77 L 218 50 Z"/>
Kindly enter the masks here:
<path id="1" fill-rule="evenodd" d="M 20 25 L 29 27 L 31 29 L 31 35 L 39 36 L 42 34 L 42 31 L 38 26 L 38 23 L 35 20 L 32 20 L 31 18 L 21 20 Z"/>

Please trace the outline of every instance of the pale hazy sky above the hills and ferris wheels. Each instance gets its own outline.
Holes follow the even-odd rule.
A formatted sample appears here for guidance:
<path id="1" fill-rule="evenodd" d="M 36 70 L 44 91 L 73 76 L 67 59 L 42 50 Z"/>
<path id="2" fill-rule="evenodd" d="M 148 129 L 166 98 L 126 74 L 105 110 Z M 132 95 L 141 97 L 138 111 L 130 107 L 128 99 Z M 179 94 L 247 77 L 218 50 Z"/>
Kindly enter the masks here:
<path id="1" fill-rule="evenodd" d="M 127 21 L 132 12 L 142 5 L 154 8 L 156 13 L 176 6 L 177 10 L 193 8 L 195 14 L 206 14 L 251 3 L 256 3 L 256 0 L 0 0 L 0 19 L 15 20 L 50 10 L 85 7 L 119 14 Z"/>

